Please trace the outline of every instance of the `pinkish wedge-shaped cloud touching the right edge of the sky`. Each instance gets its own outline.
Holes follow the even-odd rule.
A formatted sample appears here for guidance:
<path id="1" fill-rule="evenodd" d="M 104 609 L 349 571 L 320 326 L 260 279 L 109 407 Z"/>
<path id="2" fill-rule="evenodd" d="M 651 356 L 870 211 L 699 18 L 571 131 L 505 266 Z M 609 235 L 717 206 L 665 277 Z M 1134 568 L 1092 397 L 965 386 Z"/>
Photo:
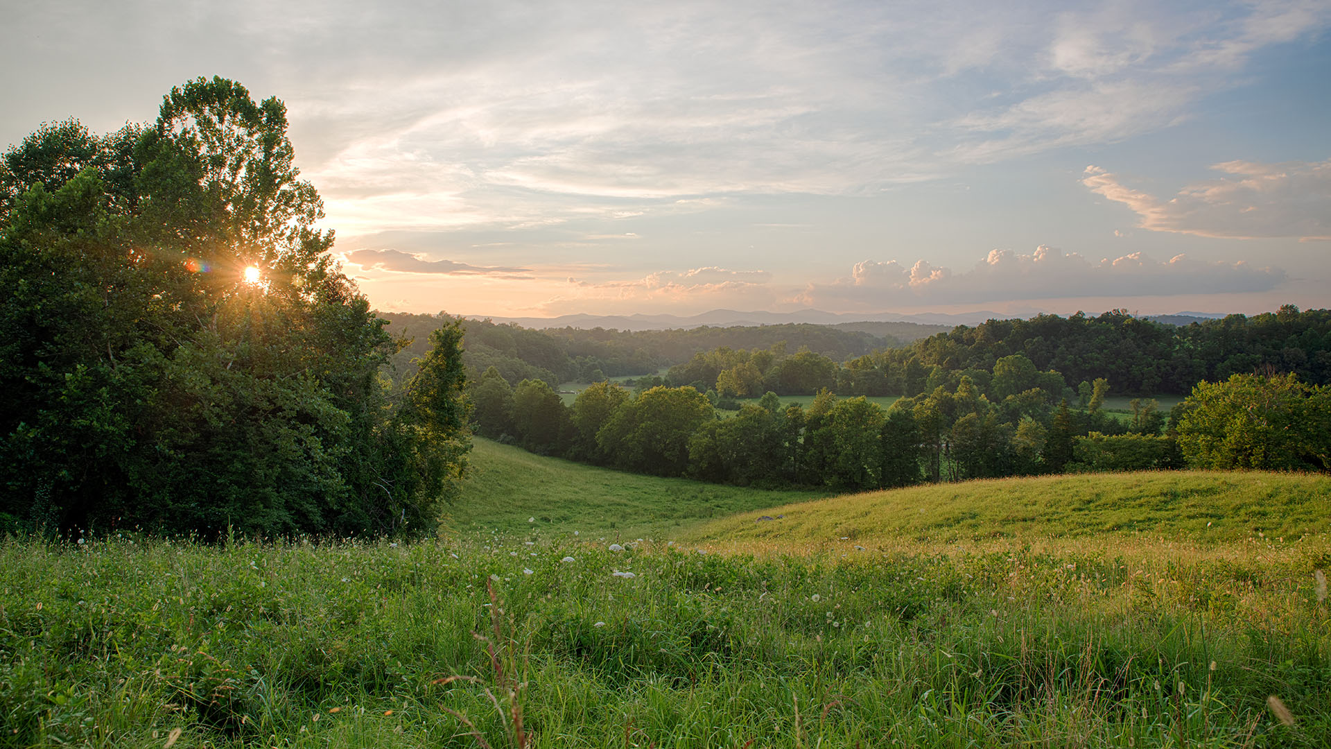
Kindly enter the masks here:
<path id="1" fill-rule="evenodd" d="M 1190 184 L 1170 200 L 1133 189 L 1114 173 L 1086 167 L 1082 184 L 1122 203 L 1138 227 L 1203 237 L 1331 240 L 1331 159 L 1225 161 L 1226 176 Z"/>

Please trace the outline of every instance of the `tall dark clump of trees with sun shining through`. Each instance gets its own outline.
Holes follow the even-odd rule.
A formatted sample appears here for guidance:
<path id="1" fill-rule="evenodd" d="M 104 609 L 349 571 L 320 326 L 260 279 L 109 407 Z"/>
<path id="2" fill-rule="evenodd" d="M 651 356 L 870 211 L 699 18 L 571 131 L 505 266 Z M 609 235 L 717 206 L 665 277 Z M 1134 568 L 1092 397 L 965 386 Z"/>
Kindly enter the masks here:
<path id="1" fill-rule="evenodd" d="M 433 526 L 466 449 L 461 331 L 414 378 L 330 263 L 277 99 L 198 79 L 156 124 L 44 125 L 0 171 L 0 525 Z"/>

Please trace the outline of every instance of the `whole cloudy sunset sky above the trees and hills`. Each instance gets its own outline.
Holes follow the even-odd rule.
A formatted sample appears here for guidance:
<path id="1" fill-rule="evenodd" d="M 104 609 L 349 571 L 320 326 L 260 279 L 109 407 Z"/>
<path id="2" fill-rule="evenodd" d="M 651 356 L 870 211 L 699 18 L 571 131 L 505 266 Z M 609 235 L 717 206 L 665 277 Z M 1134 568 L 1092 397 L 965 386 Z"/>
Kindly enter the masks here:
<path id="1" fill-rule="evenodd" d="M 1331 307 L 1331 0 L 0 17 L 0 147 L 150 121 L 198 76 L 281 99 L 382 311 Z"/>

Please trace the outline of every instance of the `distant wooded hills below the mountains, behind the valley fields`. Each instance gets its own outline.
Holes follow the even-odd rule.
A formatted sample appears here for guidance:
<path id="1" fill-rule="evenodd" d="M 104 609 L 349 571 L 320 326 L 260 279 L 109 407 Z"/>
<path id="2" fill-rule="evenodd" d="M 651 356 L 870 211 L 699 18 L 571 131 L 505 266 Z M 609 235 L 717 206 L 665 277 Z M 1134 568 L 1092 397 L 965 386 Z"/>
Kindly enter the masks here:
<path id="1" fill-rule="evenodd" d="M 397 378 L 413 372 L 411 359 L 429 333 L 454 321 L 449 315 L 381 313 L 389 332 L 409 340 L 395 357 Z M 1260 368 L 1291 372 L 1304 382 L 1331 382 L 1331 311 L 1286 305 L 1276 312 L 1170 325 L 1123 309 L 1098 316 L 1040 315 L 1029 320 L 989 320 L 981 325 L 884 324 L 760 325 L 687 331 L 536 331 L 488 320 L 466 320 L 465 361 L 473 380 L 490 367 L 516 385 L 543 380 L 595 382 L 607 377 L 655 374 L 659 384 L 692 385 L 723 393 L 721 372 L 737 385 L 732 394 L 808 394 L 821 388 L 841 396 L 916 396 L 938 385 L 956 388 L 962 374 L 985 385 L 997 361 L 1021 355 L 1040 371 L 1058 372 L 1066 385 L 1103 377 L 1118 394 L 1186 396 L 1197 382 L 1221 381 Z M 415 343 L 411 343 L 415 341 Z M 773 364 L 808 352 L 816 380 L 783 377 Z M 816 359 L 809 359 L 809 357 Z M 752 360 L 752 361 L 749 361 Z M 736 378 L 737 377 L 737 378 Z"/>

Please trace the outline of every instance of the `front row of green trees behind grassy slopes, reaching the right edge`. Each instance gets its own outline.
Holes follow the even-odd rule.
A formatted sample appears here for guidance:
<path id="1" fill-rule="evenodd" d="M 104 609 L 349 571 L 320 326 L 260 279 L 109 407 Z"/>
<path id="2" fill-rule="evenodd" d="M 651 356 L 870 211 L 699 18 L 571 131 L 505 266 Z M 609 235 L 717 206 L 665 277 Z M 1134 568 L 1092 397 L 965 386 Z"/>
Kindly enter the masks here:
<path id="1" fill-rule="evenodd" d="M 816 485 L 841 490 L 1061 472 L 1205 468 L 1331 468 L 1331 386 L 1295 374 L 1234 374 L 1203 382 L 1169 414 L 1133 400 L 1118 418 L 1103 410 L 1097 378 L 1077 402 L 1044 389 L 1020 355 L 1000 360 L 988 392 L 969 376 L 956 388 L 900 398 L 820 390 L 805 408 L 768 392 L 720 418 L 691 386 L 631 393 L 598 382 L 571 406 L 546 382 L 512 388 L 494 369 L 471 397 L 476 433 L 543 454 L 659 476 L 739 485 Z M 1036 382 L 1033 386 L 1032 382 Z"/>

